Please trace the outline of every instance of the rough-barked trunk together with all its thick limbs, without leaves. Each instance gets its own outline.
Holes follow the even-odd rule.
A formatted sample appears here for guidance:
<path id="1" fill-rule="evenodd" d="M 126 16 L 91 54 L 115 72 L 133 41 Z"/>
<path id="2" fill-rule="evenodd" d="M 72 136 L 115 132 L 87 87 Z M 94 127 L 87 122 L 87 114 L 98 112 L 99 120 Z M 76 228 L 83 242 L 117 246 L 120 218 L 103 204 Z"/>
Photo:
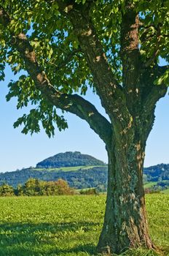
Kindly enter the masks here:
<path id="1" fill-rule="evenodd" d="M 89 6 L 69 0 L 57 2 L 60 13 L 74 27 L 74 34 L 79 39 L 80 48 L 93 74 L 95 89 L 110 122 L 90 102 L 76 94 L 62 94 L 55 89 L 55 85 L 51 85 L 24 34 L 15 35 L 13 45 L 25 61 L 36 89 L 57 108 L 86 120 L 106 143 L 109 156 L 108 192 L 98 252 L 119 254 L 136 246 L 153 249 L 146 220 L 143 166 L 146 140 L 154 123 L 155 105 L 167 91 L 165 87 L 155 87 L 154 79 L 164 70 L 157 64 L 147 67 L 141 61 L 138 47 L 139 18 L 130 1 L 126 1 L 126 12 L 122 14 L 122 85 L 114 79 L 90 18 L 90 4 L 94 1 L 88 1 Z M 3 8 L 0 22 L 4 26 L 10 22 Z"/>

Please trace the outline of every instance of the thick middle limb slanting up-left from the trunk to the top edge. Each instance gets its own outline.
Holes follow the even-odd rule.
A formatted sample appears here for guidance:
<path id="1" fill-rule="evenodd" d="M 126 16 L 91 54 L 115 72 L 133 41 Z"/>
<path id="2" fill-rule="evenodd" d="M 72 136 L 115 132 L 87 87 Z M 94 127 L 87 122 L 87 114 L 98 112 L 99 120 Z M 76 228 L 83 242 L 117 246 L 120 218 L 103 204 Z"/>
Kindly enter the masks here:
<path id="1" fill-rule="evenodd" d="M 64 3 L 67 2 L 64 10 L 63 2 L 57 2 L 60 12 L 71 20 L 74 34 L 79 39 L 80 48 L 93 74 L 95 88 L 106 113 L 109 116 L 115 115 L 114 109 L 120 110 L 120 113 L 125 113 L 125 94 L 111 72 L 106 55 L 103 52 L 103 46 L 90 18 L 90 4 L 93 1 L 87 1 L 85 4 L 64 1 Z"/>

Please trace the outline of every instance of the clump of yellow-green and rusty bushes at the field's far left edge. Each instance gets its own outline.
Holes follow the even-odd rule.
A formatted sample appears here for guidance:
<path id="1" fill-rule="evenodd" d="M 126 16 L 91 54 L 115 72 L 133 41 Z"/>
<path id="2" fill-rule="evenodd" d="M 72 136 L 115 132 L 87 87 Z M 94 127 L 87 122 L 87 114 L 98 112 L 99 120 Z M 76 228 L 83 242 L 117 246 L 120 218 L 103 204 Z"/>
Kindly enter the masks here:
<path id="1" fill-rule="evenodd" d="M 63 179 L 58 181 L 41 181 L 29 178 L 24 185 L 18 184 L 17 188 L 9 184 L 0 186 L 0 196 L 34 196 L 34 195 L 74 195 L 74 189 L 68 186 Z"/>

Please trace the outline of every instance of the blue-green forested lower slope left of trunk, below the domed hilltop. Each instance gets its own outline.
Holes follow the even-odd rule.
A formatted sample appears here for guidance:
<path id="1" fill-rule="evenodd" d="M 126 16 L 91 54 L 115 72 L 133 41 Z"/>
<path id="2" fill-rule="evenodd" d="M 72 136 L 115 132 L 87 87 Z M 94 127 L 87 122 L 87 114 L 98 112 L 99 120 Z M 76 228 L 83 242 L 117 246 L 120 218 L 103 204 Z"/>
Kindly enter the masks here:
<path id="1" fill-rule="evenodd" d="M 72 167 L 73 169 L 73 167 Z M 107 166 L 89 167 L 87 170 L 58 170 L 58 169 L 37 169 L 25 168 L 15 172 L 0 173 L 0 185 L 9 184 L 17 187 L 17 184 L 25 184 L 28 178 L 38 178 L 41 181 L 57 181 L 59 178 L 68 182 L 70 187 L 75 189 L 86 189 L 91 187 L 107 187 Z M 100 189 L 100 188 L 99 188 Z"/>

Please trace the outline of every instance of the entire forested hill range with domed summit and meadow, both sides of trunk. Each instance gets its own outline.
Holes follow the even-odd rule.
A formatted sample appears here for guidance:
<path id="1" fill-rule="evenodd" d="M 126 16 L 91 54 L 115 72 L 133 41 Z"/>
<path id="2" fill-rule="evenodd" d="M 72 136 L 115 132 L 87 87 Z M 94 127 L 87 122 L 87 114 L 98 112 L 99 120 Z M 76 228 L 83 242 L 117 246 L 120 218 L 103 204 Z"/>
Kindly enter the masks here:
<path id="1" fill-rule="evenodd" d="M 107 165 L 101 160 L 80 152 L 60 153 L 44 159 L 36 167 L 0 173 L 0 185 L 7 183 L 17 187 L 17 184 L 24 184 L 28 178 L 38 178 L 43 181 L 56 181 L 58 178 L 63 178 L 68 181 L 70 187 L 75 189 L 97 187 L 103 191 L 107 185 Z M 144 184 L 146 189 L 149 187 L 156 190 L 167 189 L 169 165 L 161 164 L 144 168 Z"/>

